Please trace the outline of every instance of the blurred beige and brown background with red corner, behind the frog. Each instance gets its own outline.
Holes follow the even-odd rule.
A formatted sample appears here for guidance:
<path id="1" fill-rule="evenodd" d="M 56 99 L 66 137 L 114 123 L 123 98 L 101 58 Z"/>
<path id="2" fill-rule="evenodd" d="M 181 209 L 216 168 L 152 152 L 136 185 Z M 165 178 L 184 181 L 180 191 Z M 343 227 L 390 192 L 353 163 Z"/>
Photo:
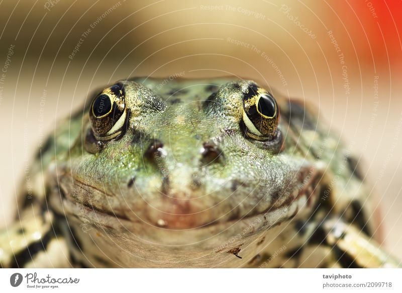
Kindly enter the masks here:
<path id="1" fill-rule="evenodd" d="M 402 258 L 400 29 L 400 1 L 2 1 L 0 226 L 46 133 L 92 89 L 235 75 L 314 103 L 353 145 Z"/>

